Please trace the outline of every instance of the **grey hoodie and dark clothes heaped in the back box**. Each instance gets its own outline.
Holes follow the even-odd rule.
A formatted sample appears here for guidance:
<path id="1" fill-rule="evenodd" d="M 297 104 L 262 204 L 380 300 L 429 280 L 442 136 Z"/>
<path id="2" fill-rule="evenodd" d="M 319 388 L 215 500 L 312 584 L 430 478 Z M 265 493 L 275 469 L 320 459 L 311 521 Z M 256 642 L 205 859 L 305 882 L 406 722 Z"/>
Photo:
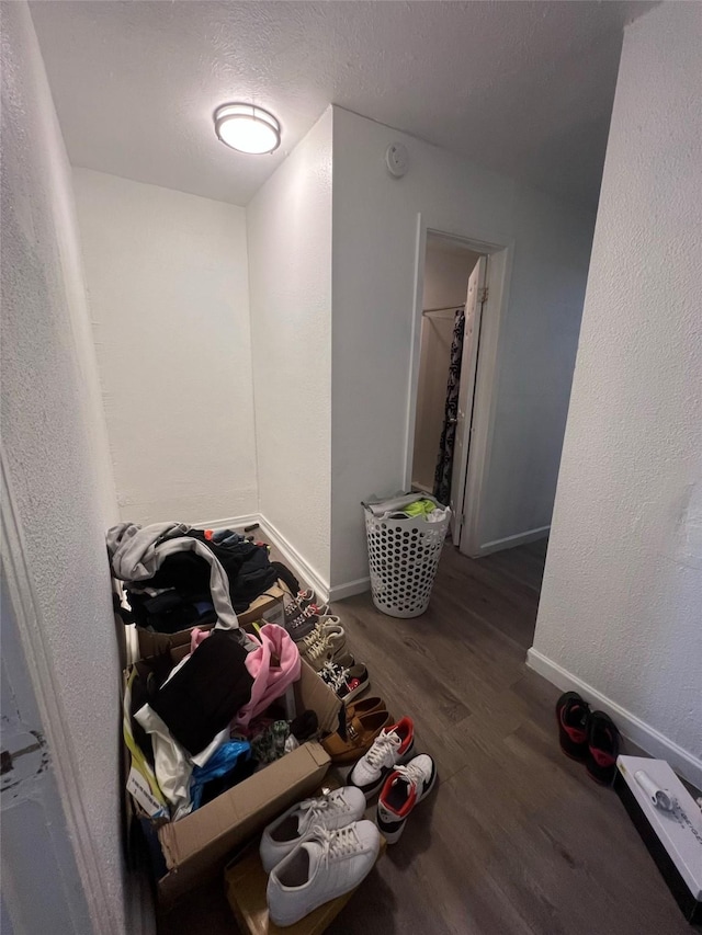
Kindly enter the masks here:
<path id="1" fill-rule="evenodd" d="M 212 597 L 213 557 L 224 577 L 235 613 L 264 594 L 279 579 L 292 592 L 294 575 L 269 558 L 268 546 L 231 529 L 193 529 L 184 523 L 134 523 L 113 526 L 107 551 L 115 578 L 126 582 L 134 622 L 157 632 L 173 634 L 192 626 L 214 624 L 219 614 Z"/>

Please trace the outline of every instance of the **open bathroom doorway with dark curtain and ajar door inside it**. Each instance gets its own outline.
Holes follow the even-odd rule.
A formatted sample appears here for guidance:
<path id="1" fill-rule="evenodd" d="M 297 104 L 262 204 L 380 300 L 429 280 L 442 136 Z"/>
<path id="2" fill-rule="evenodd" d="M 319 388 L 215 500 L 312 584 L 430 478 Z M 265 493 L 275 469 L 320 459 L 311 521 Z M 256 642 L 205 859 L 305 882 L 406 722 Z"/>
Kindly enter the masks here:
<path id="1" fill-rule="evenodd" d="M 421 219 L 418 248 L 408 480 L 451 506 L 454 545 L 478 557 L 509 250 L 428 230 Z"/>

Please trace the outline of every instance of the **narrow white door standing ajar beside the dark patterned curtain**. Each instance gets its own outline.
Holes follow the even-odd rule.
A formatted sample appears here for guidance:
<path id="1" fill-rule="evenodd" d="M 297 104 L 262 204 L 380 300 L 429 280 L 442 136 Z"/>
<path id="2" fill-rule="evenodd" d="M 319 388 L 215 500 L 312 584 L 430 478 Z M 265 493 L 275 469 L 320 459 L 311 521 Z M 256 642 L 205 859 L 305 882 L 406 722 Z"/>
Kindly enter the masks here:
<path id="1" fill-rule="evenodd" d="M 468 294 L 465 300 L 465 331 L 463 334 L 463 356 L 461 358 L 461 384 L 458 386 L 458 413 L 456 418 L 456 437 L 453 449 L 453 471 L 451 477 L 451 536 L 457 547 L 464 523 L 465 481 L 471 447 L 473 421 L 473 399 L 475 396 L 475 375 L 478 364 L 478 344 L 480 338 L 480 315 L 487 258 L 480 256 L 468 280 Z"/>

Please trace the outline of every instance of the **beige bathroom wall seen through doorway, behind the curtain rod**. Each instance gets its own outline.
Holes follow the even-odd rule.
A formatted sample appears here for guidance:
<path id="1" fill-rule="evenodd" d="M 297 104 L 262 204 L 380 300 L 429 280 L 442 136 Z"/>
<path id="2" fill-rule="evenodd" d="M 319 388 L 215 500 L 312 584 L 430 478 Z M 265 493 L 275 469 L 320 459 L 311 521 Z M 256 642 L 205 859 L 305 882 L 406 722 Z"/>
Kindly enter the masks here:
<path id="1" fill-rule="evenodd" d="M 423 308 L 457 308 L 463 305 L 468 276 L 477 259 L 477 253 L 462 250 L 430 235 L 424 258 Z M 424 317 L 421 322 L 412 483 L 430 490 L 433 488 L 446 407 L 453 326 L 450 311 Z"/>

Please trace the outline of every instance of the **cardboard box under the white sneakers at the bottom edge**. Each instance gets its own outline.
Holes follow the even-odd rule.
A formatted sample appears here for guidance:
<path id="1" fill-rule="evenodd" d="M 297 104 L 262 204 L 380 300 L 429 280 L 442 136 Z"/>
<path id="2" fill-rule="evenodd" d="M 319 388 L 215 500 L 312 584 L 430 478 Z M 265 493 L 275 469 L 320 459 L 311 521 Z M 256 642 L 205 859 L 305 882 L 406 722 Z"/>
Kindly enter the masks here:
<path id="1" fill-rule="evenodd" d="M 378 860 L 383 856 L 385 847 L 386 841 L 381 835 Z M 261 864 L 258 848 L 242 860 L 231 862 L 224 871 L 224 879 L 227 900 L 242 935 L 320 935 L 326 932 L 332 920 L 337 917 L 359 889 L 355 887 L 348 893 L 325 902 L 309 915 L 301 919 L 299 922 L 281 928 L 271 922 L 268 915 L 268 902 L 265 900 L 268 874 Z M 360 886 L 362 887 L 363 883 Z"/>

